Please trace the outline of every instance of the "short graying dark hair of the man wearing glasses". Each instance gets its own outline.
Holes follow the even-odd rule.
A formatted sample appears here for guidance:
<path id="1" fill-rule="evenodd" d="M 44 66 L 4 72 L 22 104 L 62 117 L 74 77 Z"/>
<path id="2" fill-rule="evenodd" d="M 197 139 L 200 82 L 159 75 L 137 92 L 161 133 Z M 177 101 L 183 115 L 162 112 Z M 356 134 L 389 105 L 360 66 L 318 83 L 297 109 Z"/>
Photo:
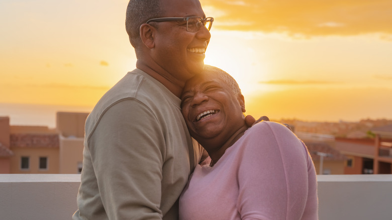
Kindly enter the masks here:
<path id="1" fill-rule="evenodd" d="M 140 26 L 152 18 L 162 15 L 160 0 L 131 0 L 128 3 L 125 29 L 129 41 L 136 49 L 141 44 Z"/>

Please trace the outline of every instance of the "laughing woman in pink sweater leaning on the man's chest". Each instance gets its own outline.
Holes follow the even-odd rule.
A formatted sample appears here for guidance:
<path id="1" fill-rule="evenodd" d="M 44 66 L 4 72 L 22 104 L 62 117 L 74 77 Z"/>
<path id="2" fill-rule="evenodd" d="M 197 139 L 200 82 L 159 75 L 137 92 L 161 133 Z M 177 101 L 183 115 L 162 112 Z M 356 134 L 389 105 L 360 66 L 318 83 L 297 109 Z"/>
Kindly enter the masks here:
<path id="1" fill-rule="evenodd" d="M 306 146 L 281 124 L 244 123 L 237 82 L 207 66 L 187 81 L 182 115 L 209 153 L 180 197 L 180 219 L 318 219 L 316 172 Z"/>

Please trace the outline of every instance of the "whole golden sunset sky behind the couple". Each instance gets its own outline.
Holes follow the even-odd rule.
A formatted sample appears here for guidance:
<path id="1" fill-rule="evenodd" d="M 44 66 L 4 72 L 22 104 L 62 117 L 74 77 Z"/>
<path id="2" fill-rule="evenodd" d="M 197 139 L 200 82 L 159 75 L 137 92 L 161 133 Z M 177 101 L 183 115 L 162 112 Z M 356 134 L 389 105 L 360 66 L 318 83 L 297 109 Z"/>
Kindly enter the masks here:
<path id="1" fill-rule="evenodd" d="M 392 1 L 201 0 L 205 63 L 229 72 L 247 114 L 392 119 Z M 93 106 L 136 57 L 126 0 L 1 0 L 0 102 Z"/>

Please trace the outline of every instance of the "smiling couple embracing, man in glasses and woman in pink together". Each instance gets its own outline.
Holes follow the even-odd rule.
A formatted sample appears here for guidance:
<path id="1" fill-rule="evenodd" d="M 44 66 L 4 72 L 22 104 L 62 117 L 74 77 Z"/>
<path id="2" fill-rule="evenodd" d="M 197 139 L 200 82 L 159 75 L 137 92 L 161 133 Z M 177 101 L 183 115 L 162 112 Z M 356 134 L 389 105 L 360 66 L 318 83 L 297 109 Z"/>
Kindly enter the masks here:
<path id="1" fill-rule="evenodd" d="M 306 146 L 204 65 L 213 22 L 199 0 L 129 2 L 136 69 L 86 120 L 73 219 L 318 219 Z"/>

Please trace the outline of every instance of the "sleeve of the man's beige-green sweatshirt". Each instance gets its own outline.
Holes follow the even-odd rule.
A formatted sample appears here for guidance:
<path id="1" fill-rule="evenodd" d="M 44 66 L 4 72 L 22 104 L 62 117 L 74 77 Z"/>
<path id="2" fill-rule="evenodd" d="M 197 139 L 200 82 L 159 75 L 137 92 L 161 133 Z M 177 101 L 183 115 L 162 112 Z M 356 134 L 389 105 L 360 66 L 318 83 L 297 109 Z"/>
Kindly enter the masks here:
<path id="1" fill-rule="evenodd" d="M 88 150 L 109 219 L 161 219 L 165 140 L 151 111 L 136 100 L 109 107 Z"/>

